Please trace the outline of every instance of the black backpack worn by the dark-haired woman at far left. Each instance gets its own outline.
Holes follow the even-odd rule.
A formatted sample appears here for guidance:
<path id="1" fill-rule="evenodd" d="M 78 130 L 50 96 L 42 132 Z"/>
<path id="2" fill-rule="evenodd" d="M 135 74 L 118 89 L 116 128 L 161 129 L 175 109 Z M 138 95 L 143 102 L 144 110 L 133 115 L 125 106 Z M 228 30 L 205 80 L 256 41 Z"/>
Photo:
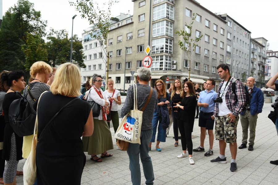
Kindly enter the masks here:
<path id="1" fill-rule="evenodd" d="M 14 100 L 9 108 L 10 125 L 15 134 L 20 137 L 32 135 L 34 133 L 34 125 L 36 121 L 36 115 L 33 114 L 29 107 L 27 94 L 29 94 L 34 102 L 36 99 L 33 97 L 29 85 L 27 89 L 28 93 L 26 93 L 24 97 L 18 91 L 15 92 L 21 98 Z"/>

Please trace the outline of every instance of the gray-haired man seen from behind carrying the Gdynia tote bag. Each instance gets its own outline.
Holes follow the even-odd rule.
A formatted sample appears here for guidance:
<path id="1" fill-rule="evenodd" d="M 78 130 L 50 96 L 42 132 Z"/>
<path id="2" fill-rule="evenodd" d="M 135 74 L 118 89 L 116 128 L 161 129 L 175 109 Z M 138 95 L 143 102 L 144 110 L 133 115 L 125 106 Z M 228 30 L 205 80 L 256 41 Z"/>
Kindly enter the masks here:
<path id="1" fill-rule="evenodd" d="M 137 107 L 141 110 L 150 94 L 149 81 L 151 80 L 152 73 L 148 68 L 139 68 L 137 70 Z M 124 117 L 129 110 L 134 109 L 133 103 L 133 86 L 127 90 L 127 97 L 121 111 L 121 117 Z M 139 154 L 143 166 L 144 175 L 146 178 L 145 184 L 154 184 L 154 170 L 152 160 L 149 156 L 149 142 L 153 134 L 152 119 L 154 109 L 157 107 L 157 91 L 153 88 L 153 92 L 148 105 L 143 111 L 142 125 L 141 125 L 141 145 L 129 143 L 128 157 L 129 157 L 129 170 L 131 172 L 131 181 L 133 185 L 141 184 L 141 170 L 139 164 Z"/>

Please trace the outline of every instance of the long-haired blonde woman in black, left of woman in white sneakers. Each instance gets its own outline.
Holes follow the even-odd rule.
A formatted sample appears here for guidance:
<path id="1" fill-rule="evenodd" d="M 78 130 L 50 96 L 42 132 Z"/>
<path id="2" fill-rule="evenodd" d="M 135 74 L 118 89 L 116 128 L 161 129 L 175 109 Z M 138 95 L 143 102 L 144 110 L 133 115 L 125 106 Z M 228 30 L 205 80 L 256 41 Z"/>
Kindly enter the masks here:
<path id="1" fill-rule="evenodd" d="M 173 90 L 171 92 L 171 102 L 172 102 L 172 118 L 173 118 L 173 130 L 174 130 L 174 137 L 175 137 L 175 144 L 174 146 L 178 146 L 179 145 L 179 127 L 178 127 L 178 120 L 176 118 L 176 114 L 177 114 L 177 108 L 175 108 L 174 106 L 177 105 L 177 103 L 180 103 L 181 101 L 181 97 L 180 97 L 180 93 L 183 91 L 182 85 L 181 85 L 181 81 L 177 78 L 174 80 L 174 87 Z"/>

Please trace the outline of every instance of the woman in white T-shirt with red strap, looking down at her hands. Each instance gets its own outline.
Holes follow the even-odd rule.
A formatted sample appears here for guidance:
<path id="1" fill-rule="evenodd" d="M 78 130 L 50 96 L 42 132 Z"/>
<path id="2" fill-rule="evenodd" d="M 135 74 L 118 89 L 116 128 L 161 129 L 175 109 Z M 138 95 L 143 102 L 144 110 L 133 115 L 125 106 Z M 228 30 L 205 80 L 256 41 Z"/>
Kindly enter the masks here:
<path id="1" fill-rule="evenodd" d="M 114 89 L 114 81 L 112 79 L 107 80 L 108 89 L 104 91 L 104 95 L 108 98 L 110 102 L 110 107 L 107 108 L 111 112 L 111 121 L 113 124 L 114 132 L 116 133 L 119 127 L 119 114 L 118 105 L 121 105 L 121 94 L 120 91 Z M 110 128 L 110 121 L 107 121 Z"/>

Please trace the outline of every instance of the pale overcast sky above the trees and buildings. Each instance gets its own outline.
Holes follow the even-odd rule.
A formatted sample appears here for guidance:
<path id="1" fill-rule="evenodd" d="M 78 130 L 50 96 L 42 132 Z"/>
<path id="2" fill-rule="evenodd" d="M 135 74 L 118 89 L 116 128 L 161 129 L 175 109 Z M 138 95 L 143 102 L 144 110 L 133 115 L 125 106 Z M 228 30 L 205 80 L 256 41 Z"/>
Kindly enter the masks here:
<path id="1" fill-rule="evenodd" d="M 75 10 L 73 6 L 70 6 L 68 0 L 29 1 L 34 3 L 34 8 L 36 10 L 41 11 L 42 19 L 48 21 L 47 31 L 49 31 L 50 27 L 56 30 L 66 29 L 69 32 L 69 35 L 71 35 L 72 17 L 74 14 L 78 15 L 74 19 L 74 34 L 77 34 L 78 37 L 81 38 L 83 30 L 90 27 L 87 20 L 81 19 L 80 13 Z M 107 1 L 108 0 L 98 0 L 98 2 Z M 116 17 L 120 13 L 127 14 L 128 10 L 130 10 L 130 14 L 133 14 L 133 2 L 131 0 L 119 1 L 120 2 L 112 6 L 112 17 Z M 4 0 L 3 14 L 16 2 L 16 0 Z M 243 27 L 251 31 L 252 38 L 264 37 L 268 40 L 268 43 L 270 43 L 270 50 L 278 50 L 278 37 L 276 35 L 277 25 L 275 23 L 275 20 L 278 17 L 277 1 L 197 0 L 197 2 L 213 13 L 227 13 Z"/>

